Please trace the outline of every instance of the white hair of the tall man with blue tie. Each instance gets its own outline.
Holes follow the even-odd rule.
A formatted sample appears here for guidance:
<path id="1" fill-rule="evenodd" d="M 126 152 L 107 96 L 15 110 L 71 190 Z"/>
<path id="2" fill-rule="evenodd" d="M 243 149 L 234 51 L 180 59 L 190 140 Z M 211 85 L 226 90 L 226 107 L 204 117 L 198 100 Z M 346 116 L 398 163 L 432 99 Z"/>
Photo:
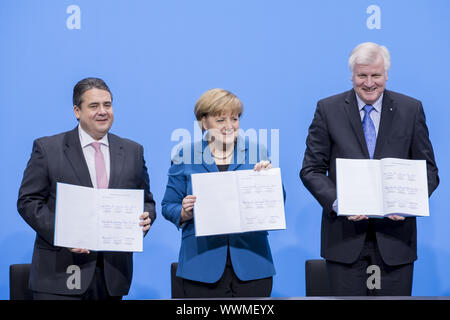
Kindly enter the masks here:
<path id="1" fill-rule="evenodd" d="M 348 66 L 353 73 L 355 64 L 371 64 L 381 56 L 384 61 L 384 70 L 386 73 L 391 67 L 391 55 L 385 46 L 380 46 L 373 42 L 364 42 L 353 49 L 348 59 Z"/>

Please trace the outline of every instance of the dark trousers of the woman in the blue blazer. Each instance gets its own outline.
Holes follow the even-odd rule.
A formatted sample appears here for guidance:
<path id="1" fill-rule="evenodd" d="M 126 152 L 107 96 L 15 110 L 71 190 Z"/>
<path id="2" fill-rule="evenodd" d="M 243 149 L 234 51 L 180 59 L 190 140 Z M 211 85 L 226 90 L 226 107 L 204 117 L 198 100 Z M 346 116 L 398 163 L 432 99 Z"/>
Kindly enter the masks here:
<path id="1" fill-rule="evenodd" d="M 228 252 L 225 271 L 219 281 L 205 283 L 183 279 L 183 289 L 185 298 L 270 297 L 272 283 L 272 277 L 240 280 L 234 273 Z"/>

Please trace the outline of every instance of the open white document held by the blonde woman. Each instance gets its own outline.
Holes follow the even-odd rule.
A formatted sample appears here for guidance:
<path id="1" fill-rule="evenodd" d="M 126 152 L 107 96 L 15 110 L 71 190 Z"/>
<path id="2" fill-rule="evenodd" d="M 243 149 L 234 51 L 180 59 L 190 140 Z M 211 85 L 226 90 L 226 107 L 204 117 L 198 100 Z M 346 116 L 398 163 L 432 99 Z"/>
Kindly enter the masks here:
<path id="1" fill-rule="evenodd" d="M 280 168 L 192 174 L 197 236 L 286 229 Z"/>

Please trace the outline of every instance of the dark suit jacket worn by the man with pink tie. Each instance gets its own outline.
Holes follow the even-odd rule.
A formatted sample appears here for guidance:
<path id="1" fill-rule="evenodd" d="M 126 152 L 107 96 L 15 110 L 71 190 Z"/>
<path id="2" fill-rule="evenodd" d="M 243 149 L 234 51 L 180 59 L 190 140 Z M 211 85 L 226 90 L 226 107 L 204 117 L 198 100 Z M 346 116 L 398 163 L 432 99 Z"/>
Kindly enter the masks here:
<path id="1" fill-rule="evenodd" d="M 111 189 L 143 189 L 144 210 L 156 218 L 155 202 L 141 145 L 108 134 Z M 76 254 L 53 245 L 55 231 L 56 183 L 92 187 L 81 149 L 78 128 L 34 141 L 33 151 L 19 190 L 17 208 L 36 231 L 30 288 L 38 292 L 75 295 L 88 288 L 94 274 L 97 253 Z M 104 252 L 104 272 L 110 295 L 128 294 L 133 273 L 133 254 Z M 70 265 L 81 269 L 81 289 L 68 289 L 66 273 Z"/>

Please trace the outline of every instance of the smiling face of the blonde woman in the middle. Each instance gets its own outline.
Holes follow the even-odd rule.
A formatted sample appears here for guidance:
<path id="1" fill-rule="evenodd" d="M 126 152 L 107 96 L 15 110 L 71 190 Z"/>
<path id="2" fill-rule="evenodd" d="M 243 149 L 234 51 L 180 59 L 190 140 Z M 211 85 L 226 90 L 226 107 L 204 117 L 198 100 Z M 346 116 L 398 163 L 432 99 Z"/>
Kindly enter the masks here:
<path id="1" fill-rule="evenodd" d="M 214 143 L 233 144 L 239 134 L 239 115 L 226 111 L 220 115 L 207 115 L 202 118 L 203 129 L 208 130 Z"/>

